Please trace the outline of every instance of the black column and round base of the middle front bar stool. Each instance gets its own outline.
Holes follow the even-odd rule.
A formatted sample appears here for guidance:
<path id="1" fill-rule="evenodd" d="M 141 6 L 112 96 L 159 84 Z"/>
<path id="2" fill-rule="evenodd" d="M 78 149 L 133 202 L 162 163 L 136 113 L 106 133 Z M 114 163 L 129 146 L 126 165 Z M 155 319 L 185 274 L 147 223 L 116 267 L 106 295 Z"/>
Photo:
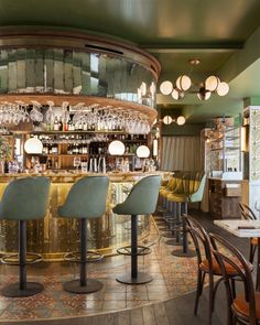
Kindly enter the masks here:
<path id="1" fill-rule="evenodd" d="M 102 283 L 94 279 L 87 279 L 87 219 L 79 219 L 80 232 L 80 259 L 79 280 L 64 283 L 63 288 L 72 293 L 91 293 L 102 289 Z"/>

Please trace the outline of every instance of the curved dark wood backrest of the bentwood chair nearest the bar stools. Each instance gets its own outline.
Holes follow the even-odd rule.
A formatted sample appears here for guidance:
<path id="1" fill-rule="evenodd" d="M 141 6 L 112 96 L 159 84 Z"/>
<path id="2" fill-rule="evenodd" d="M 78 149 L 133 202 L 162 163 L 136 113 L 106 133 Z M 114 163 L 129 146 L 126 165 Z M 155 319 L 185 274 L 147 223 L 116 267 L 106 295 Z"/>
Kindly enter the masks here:
<path id="1" fill-rule="evenodd" d="M 194 247 L 196 249 L 198 266 L 203 261 L 203 257 L 205 257 L 208 261 L 209 274 L 212 274 L 213 273 L 212 272 L 213 270 L 212 248 L 210 248 L 210 240 L 206 230 L 193 217 L 183 215 L 183 218 L 186 220 L 187 230 L 191 234 L 191 237 L 194 242 Z"/>

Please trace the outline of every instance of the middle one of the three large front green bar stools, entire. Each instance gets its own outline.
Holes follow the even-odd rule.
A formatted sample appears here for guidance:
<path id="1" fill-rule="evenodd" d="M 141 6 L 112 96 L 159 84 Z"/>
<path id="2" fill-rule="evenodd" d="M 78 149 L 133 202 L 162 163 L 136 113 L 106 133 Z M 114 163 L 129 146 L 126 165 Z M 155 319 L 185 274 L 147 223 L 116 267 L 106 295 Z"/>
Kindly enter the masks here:
<path id="1" fill-rule="evenodd" d="M 72 186 L 66 202 L 58 207 L 61 217 L 79 219 L 79 279 L 64 284 L 67 292 L 90 293 L 102 289 L 100 281 L 87 279 L 87 219 L 101 217 L 106 213 L 108 185 L 107 176 L 83 177 Z"/>

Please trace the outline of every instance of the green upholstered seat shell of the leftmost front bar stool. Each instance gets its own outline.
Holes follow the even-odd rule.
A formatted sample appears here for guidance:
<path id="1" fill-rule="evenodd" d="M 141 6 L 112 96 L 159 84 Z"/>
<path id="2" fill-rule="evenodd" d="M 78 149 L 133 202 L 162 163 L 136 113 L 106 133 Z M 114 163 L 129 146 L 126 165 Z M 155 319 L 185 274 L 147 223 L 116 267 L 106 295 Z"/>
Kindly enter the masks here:
<path id="1" fill-rule="evenodd" d="M 47 177 L 18 178 L 6 187 L 0 218 L 8 220 L 34 220 L 46 215 L 51 181 Z"/>

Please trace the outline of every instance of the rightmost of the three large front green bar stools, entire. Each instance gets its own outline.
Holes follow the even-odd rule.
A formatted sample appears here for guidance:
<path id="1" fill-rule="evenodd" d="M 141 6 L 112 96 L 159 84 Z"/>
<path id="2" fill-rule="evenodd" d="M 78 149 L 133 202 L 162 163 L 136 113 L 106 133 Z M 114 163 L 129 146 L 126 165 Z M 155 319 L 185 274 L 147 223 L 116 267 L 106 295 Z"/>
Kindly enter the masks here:
<path id="1" fill-rule="evenodd" d="M 153 214 L 158 203 L 161 176 L 148 176 L 139 181 L 131 189 L 127 199 L 113 207 L 113 213 L 118 215 L 131 215 L 131 247 L 126 247 L 129 251 L 123 253 L 131 256 L 131 274 L 122 274 L 117 278 L 118 282 L 126 284 L 144 284 L 153 280 L 152 275 L 138 271 L 138 256 L 145 254 L 145 247 L 138 247 L 138 215 Z M 144 251 L 144 253 L 143 253 Z"/>

